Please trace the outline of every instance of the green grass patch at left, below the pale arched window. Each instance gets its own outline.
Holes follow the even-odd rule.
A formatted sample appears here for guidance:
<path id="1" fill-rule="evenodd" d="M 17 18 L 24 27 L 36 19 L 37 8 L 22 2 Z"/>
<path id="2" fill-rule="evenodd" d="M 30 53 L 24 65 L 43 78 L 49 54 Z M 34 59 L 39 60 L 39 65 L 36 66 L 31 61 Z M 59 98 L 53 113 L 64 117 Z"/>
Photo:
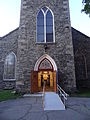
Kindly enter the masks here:
<path id="1" fill-rule="evenodd" d="M 18 97 L 21 97 L 21 95 L 18 93 L 14 93 L 12 90 L 1 90 L 0 91 L 0 102 L 9 100 L 9 99 L 16 99 Z"/>

